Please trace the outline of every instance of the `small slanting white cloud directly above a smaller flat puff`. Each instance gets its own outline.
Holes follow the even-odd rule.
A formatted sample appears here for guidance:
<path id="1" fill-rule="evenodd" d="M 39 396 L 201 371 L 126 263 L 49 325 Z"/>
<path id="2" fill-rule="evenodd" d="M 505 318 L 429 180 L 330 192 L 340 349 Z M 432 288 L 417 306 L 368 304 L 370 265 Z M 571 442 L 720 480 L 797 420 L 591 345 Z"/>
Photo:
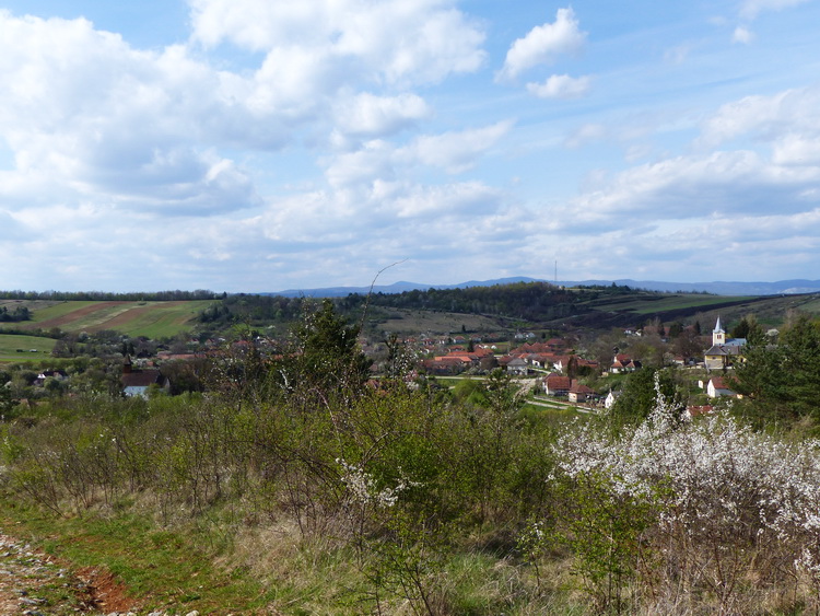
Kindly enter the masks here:
<path id="1" fill-rule="evenodd" d="M 554 23 L 536 26 L 513 43 L 496 79 L 513 80 L 532 67 L 552 63 L 557 56 L 577 54 L 585 42 L 586 33 L 579 30 L 573 10 L 559 9 Z"/>

